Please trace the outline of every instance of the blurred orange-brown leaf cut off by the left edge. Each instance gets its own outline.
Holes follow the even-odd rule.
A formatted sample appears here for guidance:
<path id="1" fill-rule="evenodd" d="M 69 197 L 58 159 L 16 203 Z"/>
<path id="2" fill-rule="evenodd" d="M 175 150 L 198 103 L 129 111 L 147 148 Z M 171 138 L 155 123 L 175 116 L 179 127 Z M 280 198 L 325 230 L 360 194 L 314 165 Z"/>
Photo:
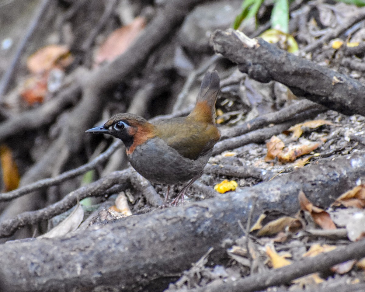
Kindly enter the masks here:
<path id="1" fill-rule="evenodd" d="M 11 149 L 6 145 L 0 145 L 1 168 L 3 169 L 4 192 L 18 188 L 19 172 L 18 167 L 11 154 Z"/>

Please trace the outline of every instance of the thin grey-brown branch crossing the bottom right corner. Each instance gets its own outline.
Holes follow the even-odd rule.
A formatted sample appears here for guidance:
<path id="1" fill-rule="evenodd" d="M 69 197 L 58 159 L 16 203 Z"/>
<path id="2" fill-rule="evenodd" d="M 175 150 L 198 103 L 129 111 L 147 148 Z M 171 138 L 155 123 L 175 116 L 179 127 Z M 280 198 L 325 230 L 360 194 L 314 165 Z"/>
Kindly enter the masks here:
<path id="1" fill-rule="evenodd" d="M 283 268 L 272 269 L 266 273 L 227 283 L 210 284 L 205 287 L 191 289 L 189 292 L 253 292 L 268 287 L 283 285 L 290 281 L 315 272 L 327 272 L 332 266 L 349 260 L 365 257 L 365 240 L 337 247 L 333 251 L 322 253 L 316 257 L 308 257 Z M 186 291 L 186 290 L 185 290 Z"/>

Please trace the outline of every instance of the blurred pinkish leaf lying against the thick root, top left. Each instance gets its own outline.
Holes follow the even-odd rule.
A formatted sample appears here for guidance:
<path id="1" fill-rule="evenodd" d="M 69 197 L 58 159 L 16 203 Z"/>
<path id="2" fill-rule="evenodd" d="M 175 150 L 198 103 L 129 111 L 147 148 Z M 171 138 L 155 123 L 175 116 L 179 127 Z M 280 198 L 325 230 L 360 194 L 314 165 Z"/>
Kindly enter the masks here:
<path id="1" fill-rule="evenodd" d="M 116 57 L 123 54 L 145 26 L 146 19 L 137 17 L 127 26 L 120 27 L 113 31 L 103 45 L 100 46 L 95 57 L 95 63 L 99 65 L 104 61 L 111 62 Z"/>

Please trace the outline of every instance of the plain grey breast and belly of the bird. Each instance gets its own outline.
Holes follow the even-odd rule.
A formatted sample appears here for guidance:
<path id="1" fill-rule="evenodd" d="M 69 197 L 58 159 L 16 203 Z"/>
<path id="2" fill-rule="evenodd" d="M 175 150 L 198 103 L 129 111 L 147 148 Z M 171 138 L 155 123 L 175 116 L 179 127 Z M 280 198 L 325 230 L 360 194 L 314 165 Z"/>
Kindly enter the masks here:
<path id="1" fill-rule="evenodd" d="M 201 174 L 211 154 L 212 150 L 191 160 L 155 137 L 137 146 L 128 160 L 138 173 L 151 182 L 179 184 Z"/>

